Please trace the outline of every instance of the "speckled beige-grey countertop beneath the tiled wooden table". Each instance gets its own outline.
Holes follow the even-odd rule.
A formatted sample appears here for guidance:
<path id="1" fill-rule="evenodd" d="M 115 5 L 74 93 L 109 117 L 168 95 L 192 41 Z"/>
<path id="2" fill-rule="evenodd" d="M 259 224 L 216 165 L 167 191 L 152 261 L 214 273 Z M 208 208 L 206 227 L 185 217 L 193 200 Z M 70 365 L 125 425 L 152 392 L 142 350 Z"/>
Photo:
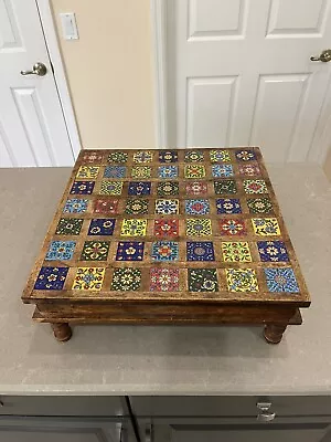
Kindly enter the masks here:
<path id="1" fill-rule="evenodd" d="M 75 326 L 66 344 L 20 296 L 70 169 L 0 169 L 0 394 L 331 393 L 331 187 L 269 166 L 312 306 L 278 346 L 248 327 Z"/>

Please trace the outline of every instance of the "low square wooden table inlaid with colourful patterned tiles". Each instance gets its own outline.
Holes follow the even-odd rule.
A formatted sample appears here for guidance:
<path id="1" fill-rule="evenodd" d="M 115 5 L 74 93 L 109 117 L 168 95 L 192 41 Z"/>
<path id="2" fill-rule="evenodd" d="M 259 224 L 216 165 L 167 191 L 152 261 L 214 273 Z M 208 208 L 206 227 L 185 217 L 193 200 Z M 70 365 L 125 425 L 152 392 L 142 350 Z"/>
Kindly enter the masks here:
<path id="1" fill-rule="evenodd" d="M 83 150 L 22 299 L 68 324 L 264 325 L 310 304 L 260 150 Z"/>

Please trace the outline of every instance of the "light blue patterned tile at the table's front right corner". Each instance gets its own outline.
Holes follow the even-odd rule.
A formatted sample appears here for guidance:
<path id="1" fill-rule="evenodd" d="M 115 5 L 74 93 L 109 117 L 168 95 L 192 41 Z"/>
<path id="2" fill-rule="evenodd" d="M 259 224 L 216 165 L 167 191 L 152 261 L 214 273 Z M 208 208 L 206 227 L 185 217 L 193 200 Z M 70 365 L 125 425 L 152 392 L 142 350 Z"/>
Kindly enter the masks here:
<path id="1" fill-rule="evenodd" d="M 298 282 L 291 267 L 264 269 L 269 292 L 299 293 Z"/>

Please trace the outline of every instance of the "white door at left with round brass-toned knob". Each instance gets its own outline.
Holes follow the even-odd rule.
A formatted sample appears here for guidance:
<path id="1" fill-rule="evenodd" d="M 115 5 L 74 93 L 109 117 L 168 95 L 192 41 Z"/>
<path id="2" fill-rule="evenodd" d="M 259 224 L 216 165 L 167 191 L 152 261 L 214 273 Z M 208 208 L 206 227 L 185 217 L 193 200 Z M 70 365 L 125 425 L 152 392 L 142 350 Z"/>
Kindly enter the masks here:
<path id="1" fill-rule="evenodd" d="M 0 167 L 73 164 L 35 0 L 0 0 Z"/>

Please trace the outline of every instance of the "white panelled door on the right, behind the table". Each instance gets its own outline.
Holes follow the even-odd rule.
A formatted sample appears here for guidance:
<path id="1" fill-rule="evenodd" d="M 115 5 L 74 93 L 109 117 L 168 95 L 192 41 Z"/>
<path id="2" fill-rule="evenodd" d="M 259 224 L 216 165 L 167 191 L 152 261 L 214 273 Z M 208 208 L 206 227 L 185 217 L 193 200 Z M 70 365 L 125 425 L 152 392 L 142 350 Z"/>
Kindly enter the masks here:
<path id="1" fill-rule="evenodd" d="M 331 63 L 310 56 L 331 49 L 330 0 L 170 0 L 167 27 L 170 144 L 320 155 Z"/>

